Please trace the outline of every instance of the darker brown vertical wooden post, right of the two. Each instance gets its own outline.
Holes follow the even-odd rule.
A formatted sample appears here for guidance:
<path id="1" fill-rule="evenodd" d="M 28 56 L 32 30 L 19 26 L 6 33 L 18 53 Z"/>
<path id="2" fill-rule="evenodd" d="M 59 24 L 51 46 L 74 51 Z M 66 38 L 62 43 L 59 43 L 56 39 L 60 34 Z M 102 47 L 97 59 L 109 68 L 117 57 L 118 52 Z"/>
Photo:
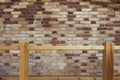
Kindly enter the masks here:
<path id="1" fill-rule="evenodd" d="M 114 44 L 104 44 L 103 54 L 103 80 L 114 80 Z"/>

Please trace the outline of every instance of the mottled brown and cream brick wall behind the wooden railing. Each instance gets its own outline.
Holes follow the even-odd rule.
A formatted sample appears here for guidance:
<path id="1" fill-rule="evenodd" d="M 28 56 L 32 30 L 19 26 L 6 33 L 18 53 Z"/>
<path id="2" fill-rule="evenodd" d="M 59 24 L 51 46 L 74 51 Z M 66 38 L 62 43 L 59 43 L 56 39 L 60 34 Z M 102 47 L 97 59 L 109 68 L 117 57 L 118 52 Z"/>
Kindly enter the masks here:
<path id="1" fill-rule="evenodd" d="M 0 45 L 120 45 L 119 3 L 0 0 Z M 115 75 L 120 75 L 120 52 Z M 30 51 L 30 75 L 102 75 L 102 51 Z M 19 75 L 19 51 L 0 51 L 0 75 Z"/>

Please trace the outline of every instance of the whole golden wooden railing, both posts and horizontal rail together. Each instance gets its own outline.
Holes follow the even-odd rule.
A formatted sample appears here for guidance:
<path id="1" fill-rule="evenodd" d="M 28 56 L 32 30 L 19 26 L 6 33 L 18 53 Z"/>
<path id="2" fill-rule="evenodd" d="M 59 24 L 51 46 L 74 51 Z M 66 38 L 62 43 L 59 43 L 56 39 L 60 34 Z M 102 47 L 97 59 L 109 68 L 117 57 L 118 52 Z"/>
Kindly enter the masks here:
<path id="1" fill-rule="evenodd" d="M 120 50 L 120 46 L 114 46 L 112 42 L 103 46 L 32 46 L 22 42 L 19 46 L 0 46 L 0 50 L 20 50 L 20 80 L 28 80 L 29 50 L 104 50 L 103 80 L 114 80 L 114 50 Z"/>

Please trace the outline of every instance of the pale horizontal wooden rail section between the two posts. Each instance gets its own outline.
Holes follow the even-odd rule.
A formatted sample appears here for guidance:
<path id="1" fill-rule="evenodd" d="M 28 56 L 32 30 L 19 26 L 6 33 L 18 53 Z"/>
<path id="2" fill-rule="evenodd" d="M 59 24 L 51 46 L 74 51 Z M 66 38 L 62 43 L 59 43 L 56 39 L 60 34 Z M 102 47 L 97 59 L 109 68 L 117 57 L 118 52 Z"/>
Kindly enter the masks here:
<path id="1" fill-rule="evenodd" d="M 104 46 L 28 46 L 29 50 L 103 50 Z"/>

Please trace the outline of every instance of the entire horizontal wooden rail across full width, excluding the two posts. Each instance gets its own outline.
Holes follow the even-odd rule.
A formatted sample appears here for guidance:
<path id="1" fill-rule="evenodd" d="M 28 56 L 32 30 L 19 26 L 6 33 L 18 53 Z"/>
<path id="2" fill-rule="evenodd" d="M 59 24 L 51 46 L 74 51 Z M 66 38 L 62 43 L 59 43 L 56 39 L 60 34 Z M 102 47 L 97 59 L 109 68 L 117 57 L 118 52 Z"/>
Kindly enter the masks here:
<path id="1" fill-rule="evenodd" d="M 0 50 L 20 50 L 20 46 L 0 46 Z M 28 46 L 28 50 L 104 50 L 104 46 Z M 120 46 L 115 46 L 120 50 Z"/>

